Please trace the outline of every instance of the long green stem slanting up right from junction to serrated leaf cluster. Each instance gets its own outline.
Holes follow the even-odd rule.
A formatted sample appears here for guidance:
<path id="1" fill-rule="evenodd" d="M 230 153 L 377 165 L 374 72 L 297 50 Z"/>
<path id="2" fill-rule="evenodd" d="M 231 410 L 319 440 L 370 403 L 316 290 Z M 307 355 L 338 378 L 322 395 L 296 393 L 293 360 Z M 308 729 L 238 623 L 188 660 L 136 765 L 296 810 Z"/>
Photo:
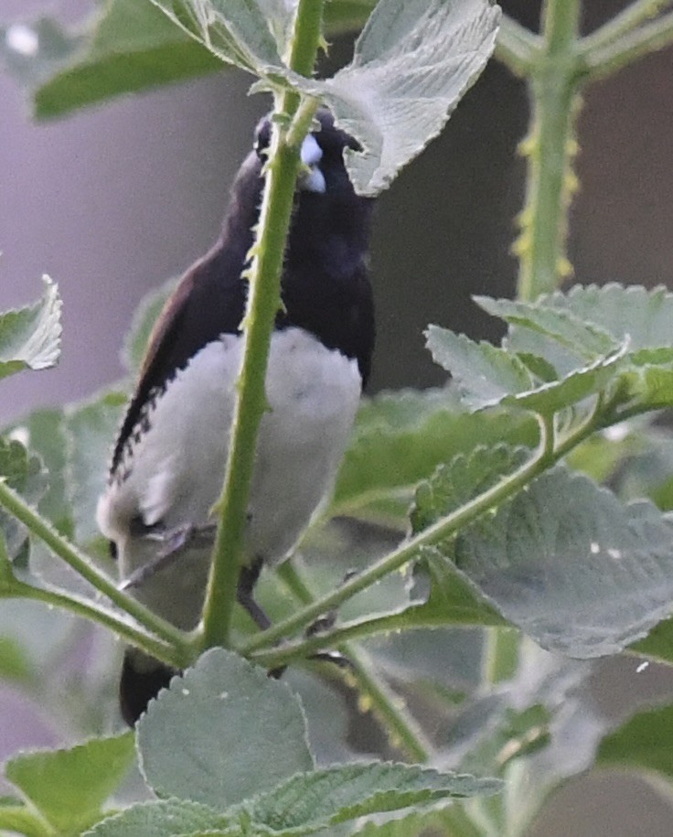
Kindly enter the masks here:
<path id="1" fill-rule="evenodd" d="M 315 600 L 312 605 L 308 605 L 293 616 L 276 623 L 272 628 L 251 637 L 240 647 L 240 652 L 248 654 L 253 650 L 268 647 L 278 639 L 309 625 L 317 617 L 340 606 L 347 599 L 375 584 L 380 578 L 401 569 L 405 563 L 411 561 L 411 558 L 418 553 L 422 546 L 431 546 L 434 543 L 445 541 L 487 510 L 500 505 L 549 466 L 547 432 L 547 423 L 540 421 L 538 450 L 528 462 L 519 467 L 513 474 L 501 479 L 495 486 L 465 503 L 465 506 L 461 506 L 460 509 L 455 510 L 441 520 L 437 520 L 428 529 L 402 543 L 393 552 L 373 563 L 367 570 L 348 579 L 334 592 Z M 328 636 L 328 633 L 324 634 L 323 638 L 326 638 L 326 636 Z"/>

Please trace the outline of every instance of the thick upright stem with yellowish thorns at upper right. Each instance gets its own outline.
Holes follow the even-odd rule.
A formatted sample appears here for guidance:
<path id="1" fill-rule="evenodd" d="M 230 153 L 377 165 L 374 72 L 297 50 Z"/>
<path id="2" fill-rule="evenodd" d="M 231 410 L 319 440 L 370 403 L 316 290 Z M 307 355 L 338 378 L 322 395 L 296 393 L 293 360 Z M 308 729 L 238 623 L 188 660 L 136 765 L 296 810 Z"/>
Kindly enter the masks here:
<path id="1" fill-rule="evenodd" d="M 514 245 L 519 257 L 518 299 L 558 288 L 571 267 L 565 254 L 568 209 L 576 185 L 573 125 L 581 79 L 577 58 L 581 0 L 546 0 L 544 48 L 529 76 L 532 118 L 521 145 L 528 158 L 526 204 Z"/>

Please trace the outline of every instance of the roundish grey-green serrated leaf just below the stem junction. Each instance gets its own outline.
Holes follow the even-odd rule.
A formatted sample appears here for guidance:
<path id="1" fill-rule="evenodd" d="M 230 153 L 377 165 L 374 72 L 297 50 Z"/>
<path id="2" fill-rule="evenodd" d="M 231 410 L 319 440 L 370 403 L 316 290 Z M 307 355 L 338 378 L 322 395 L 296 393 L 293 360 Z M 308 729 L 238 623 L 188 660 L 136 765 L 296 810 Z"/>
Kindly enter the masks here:
<path id="1" fill-rule="evenodd" d="M 148 784 L 222 810 L 313 767 L 304 713 L 288 687 L 211 649 L 138 723 Z M 217 746 L 213 743 L 217 742 Z"/>

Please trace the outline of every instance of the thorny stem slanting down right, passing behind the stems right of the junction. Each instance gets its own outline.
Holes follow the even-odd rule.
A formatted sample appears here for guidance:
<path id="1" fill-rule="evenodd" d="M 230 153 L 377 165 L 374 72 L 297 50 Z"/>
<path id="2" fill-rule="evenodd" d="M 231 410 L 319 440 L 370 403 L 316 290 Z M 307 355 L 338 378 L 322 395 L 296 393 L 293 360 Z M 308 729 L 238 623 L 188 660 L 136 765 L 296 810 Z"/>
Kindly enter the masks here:
<path id="1" fill-rule="evenodd" d="M 315 596 L 293 563 L 283 563 L 278 568 L 278 575 L 303 605 L 310 605 L 315 600 Z M 315 637 L 315 651 L 323 647 L 320 639 Z M 310 638 L 307 641 L 310 641 Z M 338 650 L 350 663 L 349 673 L 356 680 L 360 700 L 370 705 L 372 712 L 386 728 L 391 743 L 404 751 L 412 761 L 427 762 L 432 753 L 432 746 L 407 712 L 402 699 L 392 692 L 388 683 L 374 671 L 368 655 L 353 643 L 340 642 Z"/>

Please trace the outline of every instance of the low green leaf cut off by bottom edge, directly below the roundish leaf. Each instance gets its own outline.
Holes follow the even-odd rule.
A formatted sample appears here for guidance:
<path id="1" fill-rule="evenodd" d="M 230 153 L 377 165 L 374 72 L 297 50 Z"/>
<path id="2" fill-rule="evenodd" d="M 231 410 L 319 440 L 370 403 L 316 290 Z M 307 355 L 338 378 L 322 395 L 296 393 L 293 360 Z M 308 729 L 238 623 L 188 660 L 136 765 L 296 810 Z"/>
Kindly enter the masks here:
<path id="1" fill-rule="evenodd" d="M 212 746 L 212 744 L 211 744 Z M 84 837 L 187 837 L 199 832 L 232 834 L 226 829 L 229 819 L 218 810 L 187 799 L 142 802 L 99 822 Z"/>

